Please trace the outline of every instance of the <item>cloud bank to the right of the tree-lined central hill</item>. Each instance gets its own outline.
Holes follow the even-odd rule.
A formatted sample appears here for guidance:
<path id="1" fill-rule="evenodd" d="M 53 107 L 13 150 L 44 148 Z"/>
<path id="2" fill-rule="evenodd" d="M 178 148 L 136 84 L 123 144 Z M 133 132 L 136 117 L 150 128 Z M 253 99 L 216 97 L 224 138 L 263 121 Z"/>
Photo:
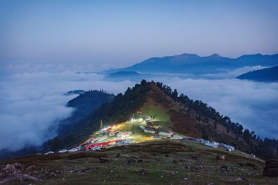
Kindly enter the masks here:
<path id="1" fill-rule="evenodd" d="M 194 100 L 202 100 L 263 137 L 278 139 L 278 83 L 224 79 L 160 79 Z"/>

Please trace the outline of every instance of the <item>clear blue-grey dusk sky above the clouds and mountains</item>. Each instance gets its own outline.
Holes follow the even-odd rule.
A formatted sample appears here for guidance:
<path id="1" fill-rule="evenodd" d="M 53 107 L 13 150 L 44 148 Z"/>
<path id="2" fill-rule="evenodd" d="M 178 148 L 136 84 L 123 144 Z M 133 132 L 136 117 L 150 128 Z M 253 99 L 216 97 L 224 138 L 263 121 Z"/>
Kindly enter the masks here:
<path id="1" fill-rule="evenodd" d="M 181 53 L 274 54 L 277 9 L 278 1 L 0 1 L 0 62 L 100 71 Z"/>

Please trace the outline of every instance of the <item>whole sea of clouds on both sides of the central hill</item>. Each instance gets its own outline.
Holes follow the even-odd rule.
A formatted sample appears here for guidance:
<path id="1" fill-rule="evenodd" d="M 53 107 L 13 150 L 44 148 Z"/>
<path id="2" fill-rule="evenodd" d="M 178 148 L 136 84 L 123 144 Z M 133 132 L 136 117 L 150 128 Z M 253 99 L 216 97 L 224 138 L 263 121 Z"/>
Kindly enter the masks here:
<path id="1" fill-rule="evenodd" d="M 74 98 L 64 96 L 67 91 L 105 89 L 118 94 L 136 83 L 130 80 L 110 82 L 97 73 L 70 71 L 14 73 L 0 78 L 0 150 L 39 146 L 54 137 L 59 121 L 74 111 L 65 107 L 67 101 Z M 262 137 L 278 139 L 278 83 L 173 76 L 153 80 L 170 85 L 189 98 L 208 103 L 220 114 Z"/>

